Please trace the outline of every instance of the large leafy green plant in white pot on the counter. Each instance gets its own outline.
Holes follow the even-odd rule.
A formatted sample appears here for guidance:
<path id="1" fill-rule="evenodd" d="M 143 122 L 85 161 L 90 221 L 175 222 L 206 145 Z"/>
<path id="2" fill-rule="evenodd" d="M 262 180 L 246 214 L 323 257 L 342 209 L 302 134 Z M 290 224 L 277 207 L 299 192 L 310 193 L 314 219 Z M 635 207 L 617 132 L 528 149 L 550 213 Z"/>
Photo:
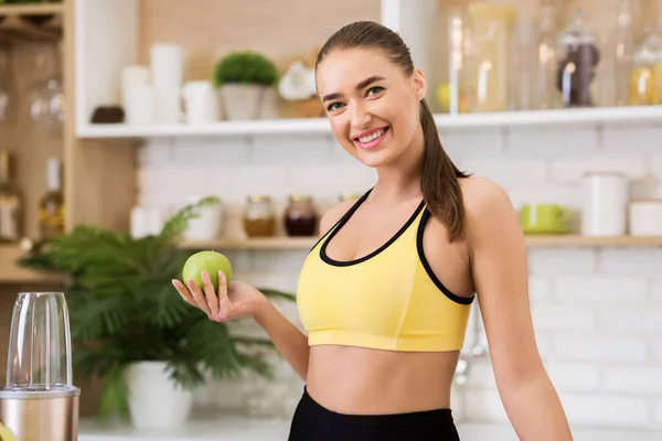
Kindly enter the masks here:
<path id="1" fill-rule="evenodd" d="M 137 427 L 181 424 L 192 391 L 207 377 L 233 378 L 246 370 L 270 378 L 264 349 L 268 340 L 233 335 L 185 303 L 172 288 L 193 251 L 178 239 L 199 209 L 217 204 L 205 197 L 172 215 L 158 235 L 139 239 L 81 225 L 19 265 L 56 271 L 66 279 L 73 363 L 84 378 L 105 378 L 98 418 L 118 415 Z M 289 293 L 263 289 L 271 297 Z"/>

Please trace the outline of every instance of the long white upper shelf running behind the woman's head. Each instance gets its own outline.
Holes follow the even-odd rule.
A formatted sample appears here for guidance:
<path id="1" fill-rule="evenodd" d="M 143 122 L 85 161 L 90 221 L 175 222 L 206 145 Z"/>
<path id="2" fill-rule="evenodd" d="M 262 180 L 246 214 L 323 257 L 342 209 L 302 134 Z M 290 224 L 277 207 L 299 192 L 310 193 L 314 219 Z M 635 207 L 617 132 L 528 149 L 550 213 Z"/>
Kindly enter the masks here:
<path id="1" fill-rule="evenodd" d="M 512 127 L 512 126 L 567 126 L 627 122 L 661 122 L 662 106 L 606 107 L 586 109 L 554 109 L 502 111 L 485 114 L 435 115 L 441 129 Z M 189 126 L 131 126 L 85 125 L 78 129 L 79 138 L 177 138 L 204 136 L 331 133 L 327 118 L 282 118 L 247 121 L 218 121 Z"/>

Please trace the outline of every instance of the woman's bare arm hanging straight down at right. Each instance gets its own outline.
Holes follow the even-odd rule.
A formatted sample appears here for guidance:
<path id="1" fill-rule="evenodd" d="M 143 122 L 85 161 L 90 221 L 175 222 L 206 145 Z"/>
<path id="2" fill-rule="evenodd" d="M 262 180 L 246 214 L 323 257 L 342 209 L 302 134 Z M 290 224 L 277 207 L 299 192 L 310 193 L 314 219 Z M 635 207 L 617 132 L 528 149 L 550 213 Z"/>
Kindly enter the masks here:
<path id="1" fill-rule="evenodd" d="M 463 186 L 467 241 L 501 401 L 520 440 L 570 441 L 535 343 L 517 216 L 503 189 L 484 179 L 471 181 Z"/>

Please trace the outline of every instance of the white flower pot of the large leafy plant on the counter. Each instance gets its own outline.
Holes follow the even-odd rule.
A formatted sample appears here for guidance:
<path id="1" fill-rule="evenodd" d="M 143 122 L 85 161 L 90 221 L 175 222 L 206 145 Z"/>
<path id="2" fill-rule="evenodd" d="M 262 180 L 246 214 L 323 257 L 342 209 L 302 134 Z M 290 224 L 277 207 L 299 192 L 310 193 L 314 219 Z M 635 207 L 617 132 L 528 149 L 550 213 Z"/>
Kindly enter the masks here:
<path id="1" fill-rule="evenodd" d="M 171 429 L 189 419 L 193 392 L 177 386 L 169 374 L 166 362 L 138 362 L 125 370 L 134 427 Z"/>

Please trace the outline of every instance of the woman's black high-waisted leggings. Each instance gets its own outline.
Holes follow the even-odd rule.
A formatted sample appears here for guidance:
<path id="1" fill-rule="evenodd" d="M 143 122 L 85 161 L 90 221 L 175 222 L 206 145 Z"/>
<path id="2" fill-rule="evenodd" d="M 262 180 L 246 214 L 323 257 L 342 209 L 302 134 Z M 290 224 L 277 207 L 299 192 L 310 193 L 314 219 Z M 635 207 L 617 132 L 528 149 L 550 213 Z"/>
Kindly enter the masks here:
<path id="1" fill-rule="evenodd" d="M 459 441 L 450 409 L 396 415 L 344 415 L 314 401 L 306 388 L 289 441 Z"/>

